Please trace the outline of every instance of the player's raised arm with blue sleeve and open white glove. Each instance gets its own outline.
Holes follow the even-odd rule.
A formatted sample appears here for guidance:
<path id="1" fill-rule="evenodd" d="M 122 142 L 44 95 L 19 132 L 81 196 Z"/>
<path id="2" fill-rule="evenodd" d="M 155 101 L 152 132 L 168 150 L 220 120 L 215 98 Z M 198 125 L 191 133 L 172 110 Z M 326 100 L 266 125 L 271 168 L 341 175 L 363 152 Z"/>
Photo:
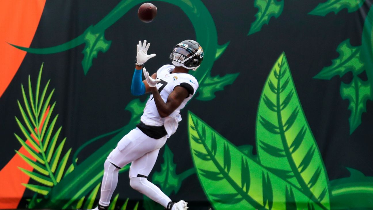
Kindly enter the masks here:
<path id="1" fill-rule="evenodd" d="M 141 78 L 142 65 L 144 65 L 144 63 L 147 62 L 148 59 L 156 56 L 156 54 L 148 55 L 149 46 L 150 43 L 146 44 L 146 40 L 144 40 L 143 44 L 141 44 L 141 41 L 139 41 L 137 45 L 136 67 L 131 84 L 131 93 L 135 96 L 140 96 L 142 94 L 150 92 L 148 83 L 146 82 L 146 80 L 142 81 Z M 155 79 L 157 78 L 157 73 L 151 76 Z"/>

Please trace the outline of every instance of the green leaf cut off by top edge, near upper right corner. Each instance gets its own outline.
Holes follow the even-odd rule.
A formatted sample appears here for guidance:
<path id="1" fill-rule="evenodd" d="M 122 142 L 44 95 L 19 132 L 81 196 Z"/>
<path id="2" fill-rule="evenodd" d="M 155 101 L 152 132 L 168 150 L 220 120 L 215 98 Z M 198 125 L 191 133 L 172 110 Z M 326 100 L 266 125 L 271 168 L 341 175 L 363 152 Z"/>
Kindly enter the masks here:
<path id="1" fill-rule="evenodd" d="M 317 5 L 317 7 L 308 14 L 325 16 L 330 12 L 337 14 L 345 8 L 348 9 L 348 12 L 355 12 L 364 4 L 364 1 L 365 0 L 327 0 Z"/>

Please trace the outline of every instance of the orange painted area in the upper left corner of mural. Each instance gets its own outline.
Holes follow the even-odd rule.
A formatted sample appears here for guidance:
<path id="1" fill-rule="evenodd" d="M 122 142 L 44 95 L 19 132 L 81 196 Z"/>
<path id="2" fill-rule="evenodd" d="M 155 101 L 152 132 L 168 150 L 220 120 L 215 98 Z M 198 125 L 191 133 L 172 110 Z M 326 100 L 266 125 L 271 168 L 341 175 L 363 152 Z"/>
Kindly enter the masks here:
<path id="1" fill-rule="evenodd" d="M 0 97 L 26 55 L 26 52 L 8 43 L 30 46 L 45 2 L 46 0 L 0 1 Z"/>

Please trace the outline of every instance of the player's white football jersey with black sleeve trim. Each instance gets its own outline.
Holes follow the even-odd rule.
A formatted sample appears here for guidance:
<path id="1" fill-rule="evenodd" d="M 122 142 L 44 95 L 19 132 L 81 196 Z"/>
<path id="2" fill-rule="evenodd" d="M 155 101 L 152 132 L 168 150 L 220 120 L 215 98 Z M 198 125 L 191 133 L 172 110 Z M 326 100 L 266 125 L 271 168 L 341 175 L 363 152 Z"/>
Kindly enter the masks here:
<path id="1" fill-rule="evenodd" d="M 141 121 L 148 126 L 162 126 L 167 131 L 167 138 L 175 133 L 179 121 L 181 121 L 180 109 L 184 108 L 186 103 L 194 96 L 198 89 L 198 81 L 195 77 L 187 73 L 171 74 L 175 66 L 164 65 L 157 71 L 157 78 L 161 81 L 157 84 L 157 89 L 163 101 L 166 102 L 169 94 L 176 86 L 185 87 L 189 95 L 184 99 L 181 105 L 175 109 L 168 117 L 160 117 L 153 95 L 150 95 L 148 102 L 145 105 L 144 114 L 141 116 Z"/>

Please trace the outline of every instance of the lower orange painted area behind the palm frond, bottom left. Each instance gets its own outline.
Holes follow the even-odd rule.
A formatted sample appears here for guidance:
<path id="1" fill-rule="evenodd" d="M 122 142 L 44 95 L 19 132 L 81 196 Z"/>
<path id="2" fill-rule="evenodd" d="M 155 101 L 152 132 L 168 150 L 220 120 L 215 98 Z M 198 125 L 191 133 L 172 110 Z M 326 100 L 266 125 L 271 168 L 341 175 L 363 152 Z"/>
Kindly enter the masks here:
<path id="1" fill-rule="evenodd" d="M 44 121 L 48 115 L 50 106 L 48 106 L 46 112 L 43 115 L 43 119 L 40 123 L 40 128 L 43 127 Z M 16 139 L 14 139 L 16 140 Z M 27 145 L 31 146 L 33 149 L 34 146 L 31 145 L 29 140 L 26 140 Z M 30 158 L 31 160 L 36 160 L 32 157 L 23 146 L 21 149 L 18 150 L 26 157 Z M 25 173 L 21 172 L 18 169 L 21 167 L 22 169 L 26 169 L 32 171 L 32 167 L 27 164 L 19 155 L 14 155 L 14 157 L 4 166 L 3 169 L 0 171 L 0 209 L 16 209 L 19 201 L 25 192 L 26 187 L 21 185 L 21 183 L 28 183 L 30 177 L 25 175 Z"/>

